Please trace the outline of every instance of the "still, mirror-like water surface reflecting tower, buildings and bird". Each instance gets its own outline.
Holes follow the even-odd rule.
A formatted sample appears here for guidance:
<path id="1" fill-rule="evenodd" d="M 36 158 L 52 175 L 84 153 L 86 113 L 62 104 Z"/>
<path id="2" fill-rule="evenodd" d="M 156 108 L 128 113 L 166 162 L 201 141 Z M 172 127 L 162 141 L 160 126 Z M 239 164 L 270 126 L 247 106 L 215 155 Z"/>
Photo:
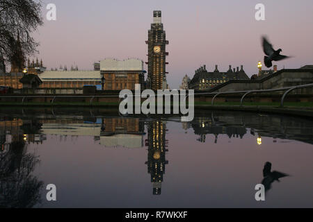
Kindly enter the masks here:
<path id="1" fill-rule="evenodd" d="M 0 207 L 313 207 L 312 144 L 299 117 L 1 108 Z"/>

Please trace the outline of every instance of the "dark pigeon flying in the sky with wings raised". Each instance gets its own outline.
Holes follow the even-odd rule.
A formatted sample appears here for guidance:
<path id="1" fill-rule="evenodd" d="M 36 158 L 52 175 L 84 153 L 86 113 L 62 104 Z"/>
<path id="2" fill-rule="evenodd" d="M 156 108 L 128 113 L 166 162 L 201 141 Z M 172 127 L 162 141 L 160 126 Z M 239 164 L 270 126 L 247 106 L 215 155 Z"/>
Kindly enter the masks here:
<path id="1" fill-rule="evenodd" d="M 266 40 L 266 37 L 262 37 L 262 44 L 263 44 L 263 51 L 266 54 L 264 56 L 264 64 L 266 67 L 272 67 L 272 61 L 279 61 L 284 60 L 286 58 L 289 58 L 288 56 L 282 56 L 280 55 L 280 52 L 282 52 L 282 49 L 274 50 L 271 43 Z"/>

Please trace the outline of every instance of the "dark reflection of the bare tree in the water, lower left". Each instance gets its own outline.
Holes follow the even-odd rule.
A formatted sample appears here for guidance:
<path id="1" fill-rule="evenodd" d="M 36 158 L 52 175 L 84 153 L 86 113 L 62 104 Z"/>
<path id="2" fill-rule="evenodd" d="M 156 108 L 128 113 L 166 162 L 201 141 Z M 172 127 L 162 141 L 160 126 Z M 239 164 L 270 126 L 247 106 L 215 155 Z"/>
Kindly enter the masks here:
<path id="1" fill-rule="evenodd" d="M 29 208 L 40 203 L 43 182 L 31 175 L 39 159 L 25 142 L 13 142 L 0 153 L 0 208 Z"/>

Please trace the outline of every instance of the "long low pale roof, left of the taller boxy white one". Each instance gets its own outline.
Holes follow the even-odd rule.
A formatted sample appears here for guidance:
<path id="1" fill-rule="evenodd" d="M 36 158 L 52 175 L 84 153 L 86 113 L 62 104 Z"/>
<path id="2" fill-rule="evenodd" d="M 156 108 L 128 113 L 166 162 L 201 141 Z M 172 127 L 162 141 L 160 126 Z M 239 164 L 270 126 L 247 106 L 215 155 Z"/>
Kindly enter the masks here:
<path id="1" fill-rule="evenodd" d="M 101 81 L 100 71 L 44 71 L 38 74 L 44 82 L 49 81 Z"/>

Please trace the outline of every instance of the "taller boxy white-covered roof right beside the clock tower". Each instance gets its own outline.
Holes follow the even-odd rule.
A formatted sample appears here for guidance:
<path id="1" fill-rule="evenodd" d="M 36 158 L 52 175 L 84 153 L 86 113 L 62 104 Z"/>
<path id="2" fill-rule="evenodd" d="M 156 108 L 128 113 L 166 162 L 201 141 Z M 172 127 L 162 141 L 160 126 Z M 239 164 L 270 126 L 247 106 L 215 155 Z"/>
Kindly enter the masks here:
<path id="1" fill-rule="evenodd" d="M 143 61 L 138 59 L 115 60 L 107 58 L 100 61 L 101 71 L 143 71 Z"/>

